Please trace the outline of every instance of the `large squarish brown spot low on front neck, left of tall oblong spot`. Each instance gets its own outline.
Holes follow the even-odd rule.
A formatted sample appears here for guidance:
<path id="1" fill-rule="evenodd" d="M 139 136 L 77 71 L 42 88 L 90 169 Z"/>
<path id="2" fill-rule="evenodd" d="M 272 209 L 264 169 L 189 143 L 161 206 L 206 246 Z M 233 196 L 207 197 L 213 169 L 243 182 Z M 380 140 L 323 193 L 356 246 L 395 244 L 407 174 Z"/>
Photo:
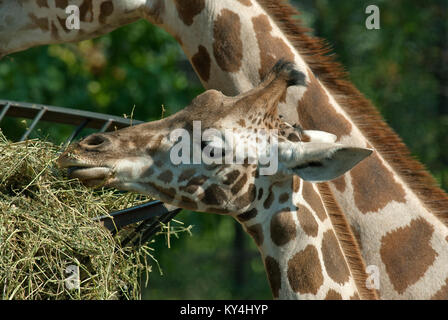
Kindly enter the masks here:
<path id="1" fill-rule="evenodd" d="M 317 294 L 324 277 L 316 247 L 308 245 L 288 261 L 288 281 L 294 292 Z"/>

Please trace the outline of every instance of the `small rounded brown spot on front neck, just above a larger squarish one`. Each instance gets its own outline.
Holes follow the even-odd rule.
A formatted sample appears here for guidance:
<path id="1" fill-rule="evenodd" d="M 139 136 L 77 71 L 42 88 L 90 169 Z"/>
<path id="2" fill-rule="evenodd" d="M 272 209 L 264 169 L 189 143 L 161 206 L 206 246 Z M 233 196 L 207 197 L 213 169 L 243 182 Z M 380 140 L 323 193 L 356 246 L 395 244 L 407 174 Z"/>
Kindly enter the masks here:
<path id="1" fill-rule="evenodd" d="M 271 218 L 271 239 L 277 246 L 283 246 L 296 237 L 296 223 L 291 211 L 279 211 Z"/>

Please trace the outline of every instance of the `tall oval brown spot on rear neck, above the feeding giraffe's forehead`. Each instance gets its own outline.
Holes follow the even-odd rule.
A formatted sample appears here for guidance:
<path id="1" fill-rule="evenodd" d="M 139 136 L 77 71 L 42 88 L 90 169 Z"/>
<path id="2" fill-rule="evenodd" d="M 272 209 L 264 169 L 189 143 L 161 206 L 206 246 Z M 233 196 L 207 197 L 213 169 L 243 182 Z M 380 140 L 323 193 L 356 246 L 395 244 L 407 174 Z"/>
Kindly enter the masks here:
<path id="1" fill-rule="evenodd" d="M 213 55 L 218 66 L 226 72 L 237 72 L 243 60 L 240 17 L 222 9 L 213 26 Z"/>

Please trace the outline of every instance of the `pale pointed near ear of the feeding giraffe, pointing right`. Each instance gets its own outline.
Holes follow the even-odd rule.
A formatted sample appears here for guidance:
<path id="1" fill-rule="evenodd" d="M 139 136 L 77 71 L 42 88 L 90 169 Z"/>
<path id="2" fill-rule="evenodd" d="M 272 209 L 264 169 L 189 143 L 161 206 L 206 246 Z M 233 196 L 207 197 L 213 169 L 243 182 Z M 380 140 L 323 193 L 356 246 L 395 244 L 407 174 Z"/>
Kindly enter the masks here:
<path id="1" fill-rule="evenodd" d="M 372 152 L 338 143 L 298 142 L 279 144 L 279 161 L 280 168 L 303 180 L 323 182 L 341 176 Z"/>

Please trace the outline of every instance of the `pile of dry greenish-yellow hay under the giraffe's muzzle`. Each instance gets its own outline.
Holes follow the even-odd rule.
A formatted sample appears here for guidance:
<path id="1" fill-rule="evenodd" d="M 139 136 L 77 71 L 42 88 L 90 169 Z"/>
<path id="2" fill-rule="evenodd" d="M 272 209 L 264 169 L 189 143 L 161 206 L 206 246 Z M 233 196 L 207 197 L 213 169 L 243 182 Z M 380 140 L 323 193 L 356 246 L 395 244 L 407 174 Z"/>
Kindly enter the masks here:
<path id="1" fill-rule="evenodd" d="M 120 233 L 91 218 L 147 199 L 68 180 L 57 151 L 38 140 L 8 142 L 0 131 L 0 298 L 139 299 L 151 248 L 122 248 Z"/>

